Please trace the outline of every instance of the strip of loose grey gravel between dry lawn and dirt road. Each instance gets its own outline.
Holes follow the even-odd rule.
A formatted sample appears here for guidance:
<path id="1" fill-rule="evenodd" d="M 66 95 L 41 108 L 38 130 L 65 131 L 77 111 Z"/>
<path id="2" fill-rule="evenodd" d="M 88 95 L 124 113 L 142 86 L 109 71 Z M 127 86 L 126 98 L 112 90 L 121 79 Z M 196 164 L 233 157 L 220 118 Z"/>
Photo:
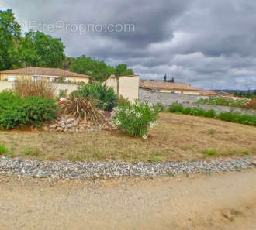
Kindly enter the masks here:
<path id="1" fill-rule="evenodd" d="M 85 179 L 111 177 L 154 177 L 181 173 L 219 173 L 244 170 L 255 166 L 251 157 L 192 162 L 124 163 L 32 161 L 0 158 L 0 173 L 20 177 L 49 177 L 54 179 Z"/>

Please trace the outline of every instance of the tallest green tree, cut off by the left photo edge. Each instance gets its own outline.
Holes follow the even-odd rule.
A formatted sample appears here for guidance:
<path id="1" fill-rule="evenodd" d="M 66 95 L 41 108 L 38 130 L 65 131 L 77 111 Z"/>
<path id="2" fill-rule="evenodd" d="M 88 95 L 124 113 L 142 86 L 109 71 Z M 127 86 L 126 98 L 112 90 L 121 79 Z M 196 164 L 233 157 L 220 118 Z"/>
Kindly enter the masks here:
<path id="1" fill-rule="evenodd" d="M 19 67 L 20 34 L 20 26 L 12 10 L 0 10 L 0 70 Z"/>

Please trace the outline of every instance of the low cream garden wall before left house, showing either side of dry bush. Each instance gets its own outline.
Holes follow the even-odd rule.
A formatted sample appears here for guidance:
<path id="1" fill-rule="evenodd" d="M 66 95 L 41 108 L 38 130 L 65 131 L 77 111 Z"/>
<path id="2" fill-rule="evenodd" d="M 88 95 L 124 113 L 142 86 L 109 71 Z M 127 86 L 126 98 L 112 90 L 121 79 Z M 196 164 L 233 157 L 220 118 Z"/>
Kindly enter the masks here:
<path id="1" fill-rule="evenodd" d="M 70 94 L 72 91 L 78 89 L 77 84 L 61 84 L 61 83 L 51 83 L 56 88 L 55 94 L 58 95 L 60 90 L 66 90 L 67 94 Z M 12 89 L 13 82 L 12 81 L 0 81 L 0 92 L 4 90 Z"/>

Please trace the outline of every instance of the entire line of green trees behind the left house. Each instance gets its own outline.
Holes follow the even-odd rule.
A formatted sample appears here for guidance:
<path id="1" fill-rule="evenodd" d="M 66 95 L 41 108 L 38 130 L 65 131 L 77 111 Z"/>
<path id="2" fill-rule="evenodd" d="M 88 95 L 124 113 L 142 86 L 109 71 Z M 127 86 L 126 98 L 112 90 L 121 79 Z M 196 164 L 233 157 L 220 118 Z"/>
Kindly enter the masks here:
<path id="1" fill-rule="evenodd" d="M 103 60 L 85 55 L 66 57 L 60 38 L 40 31 L 30 31 L 22 36 L 21 26 L 11 9 L 0 10 L 0 70 L 20 67 L 60 67 L 80 74 L 88 74 L 95 81 L 104 81 L 111 74 L 133 75 L 126 64 L 112 67 Z"/>

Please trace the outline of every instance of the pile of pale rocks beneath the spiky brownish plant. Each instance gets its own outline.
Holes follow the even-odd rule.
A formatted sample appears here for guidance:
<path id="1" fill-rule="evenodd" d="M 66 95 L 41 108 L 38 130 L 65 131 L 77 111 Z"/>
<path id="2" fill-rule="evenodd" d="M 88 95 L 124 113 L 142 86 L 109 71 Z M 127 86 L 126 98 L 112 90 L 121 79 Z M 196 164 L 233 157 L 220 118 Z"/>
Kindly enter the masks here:
<path id="1" fill-rule="evenodd" d="M 79 121 L 69 115 L 62 115 L 55 122 L 43 126 L 45 131 L 50 132 L 93 132 L 99 130 L 112 130 L 108 117 L 102 118 L 95 123 Z"/>

